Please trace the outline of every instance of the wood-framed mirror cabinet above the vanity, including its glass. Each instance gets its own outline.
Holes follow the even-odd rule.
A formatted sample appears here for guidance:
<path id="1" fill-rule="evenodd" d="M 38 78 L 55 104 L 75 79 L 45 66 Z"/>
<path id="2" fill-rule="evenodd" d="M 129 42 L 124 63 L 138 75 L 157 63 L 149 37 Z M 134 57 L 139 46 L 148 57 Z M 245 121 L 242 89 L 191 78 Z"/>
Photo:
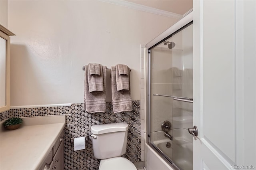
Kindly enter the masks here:
<path id="1" fill-rule="evenodd" d="M 15 36 L 0 25 L 0 112 L 10 109 L 10 36 Z"/>

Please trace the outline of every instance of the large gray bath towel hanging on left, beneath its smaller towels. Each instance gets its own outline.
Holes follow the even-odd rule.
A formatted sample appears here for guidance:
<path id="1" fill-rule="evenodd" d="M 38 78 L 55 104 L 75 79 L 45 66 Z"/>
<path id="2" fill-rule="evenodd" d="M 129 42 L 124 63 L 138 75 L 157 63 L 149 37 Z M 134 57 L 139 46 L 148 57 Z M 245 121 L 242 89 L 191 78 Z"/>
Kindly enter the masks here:
<path id="1" fill-rule="evenodd" d="M 102 66 L 103 75 L 103 93 L 90 93 L 88 85 L 88 65 L 84 70 L 84 105 L 88 113 L 105 112 L 106 111 L 106 66 Z"/>

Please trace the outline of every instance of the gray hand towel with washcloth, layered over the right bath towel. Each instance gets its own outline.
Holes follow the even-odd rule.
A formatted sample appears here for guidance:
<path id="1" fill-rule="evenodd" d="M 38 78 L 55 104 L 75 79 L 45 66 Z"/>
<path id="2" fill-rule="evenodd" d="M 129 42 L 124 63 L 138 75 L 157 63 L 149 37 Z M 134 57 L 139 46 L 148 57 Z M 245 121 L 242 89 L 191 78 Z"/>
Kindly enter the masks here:
<path id="1" fill-rule="evenodd" d="M 117 64 L 116 65 L 116 89 L 117 91 L 123 92 L 123 91 L 129 91 L 130 90 L 130 68 L 127 67 L 127 69 L 123 69 L 124 67 L 119 67 L 119 65 L 122 64 Z M 122 68 L 123 70 L 119 70 L 119 68 Z M 120 72 L 124 72 L 127 74 L 120 75 Z M 128 71 L 129 70 L 129 71 Z"/>

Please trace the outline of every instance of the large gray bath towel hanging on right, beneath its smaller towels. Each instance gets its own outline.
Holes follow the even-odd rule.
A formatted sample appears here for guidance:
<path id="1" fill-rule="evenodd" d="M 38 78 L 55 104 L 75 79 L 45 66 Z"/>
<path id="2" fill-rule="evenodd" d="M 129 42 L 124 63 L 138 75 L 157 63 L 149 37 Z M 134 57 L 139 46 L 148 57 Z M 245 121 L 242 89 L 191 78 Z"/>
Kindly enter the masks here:
<path id="1" fill-rule="evenodd" d="M 132 111 L 131 91 L 119 92 L 116 89 L 116 66 L 111 67 L 111 89 L 113 112 Z"/>

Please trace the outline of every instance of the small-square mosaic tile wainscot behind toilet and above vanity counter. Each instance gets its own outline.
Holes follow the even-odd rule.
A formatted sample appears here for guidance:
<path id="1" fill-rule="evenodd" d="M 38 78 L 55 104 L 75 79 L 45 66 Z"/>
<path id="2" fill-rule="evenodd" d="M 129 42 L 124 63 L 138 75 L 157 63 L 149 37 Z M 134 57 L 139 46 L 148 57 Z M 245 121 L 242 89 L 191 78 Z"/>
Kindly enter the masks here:
<path id="1" fill-rule="evenodd" d="M 132 101 L 132 111 L 113 113 L 112 103 L 108 102 L 105 113 L 87 113 L 83 103 L 63 107 L 40 107 L 11 109 L 9 117 L 36 117 L 48 115 L 66 115 L 64 128 L 64 164 L 65 170 L 97 170 L 98 160 L 94 158 L 92 141 L 86 141 L 84 150 L 74 151 L 70 138 L 91 135 L 90 127 L 106 123 L 125 122 L 129 125 L 127 149 L 123 156 L 131 162 L 141 161 L 140 137 L 140 101 Z"/>

